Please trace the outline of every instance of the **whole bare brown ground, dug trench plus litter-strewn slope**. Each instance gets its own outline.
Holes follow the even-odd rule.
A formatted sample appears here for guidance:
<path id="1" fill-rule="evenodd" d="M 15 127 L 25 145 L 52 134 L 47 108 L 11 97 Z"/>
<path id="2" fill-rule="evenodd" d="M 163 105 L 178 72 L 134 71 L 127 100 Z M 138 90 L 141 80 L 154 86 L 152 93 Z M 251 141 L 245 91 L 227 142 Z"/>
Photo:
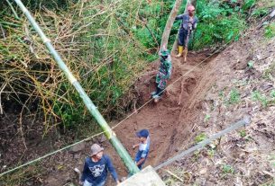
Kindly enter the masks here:
<path id="1" fill-rule="evenodd" d="M 262 31 L 251 31 L 247 35 L 203 63 L 210 54 L 207 51 L 189 53 L 187 63 L 173 58 L 170 86 L 163 99 L 157 104 L 148 103 L 115 128 L 117 137 L 132 156 L 132 146 L 137 143 L 135 132 L 148 128 L 151 152 L 146 165 L 155 166 L 194 145 L 197 135 L 211 136 L 242 119 L 244 114 L 251 115 L 250 127 L 222 137 L 213 149 L 206 147 L 167 167 L 184 182 L 160 172 L 167 184 L 259 185 L 270 182 L 274 175 L 270 164 L 275 159 L 272 156 L 275 41 L 266 40 Z M 250 67 L 249 62 L 253 64 Z M 150 100 L 154 89 L 152 72 L 158 66 L 158 62 L 152 64 L 135 84 L 140 96 L 137 108 Z M 45 172 L 32 176 L 28 184 L 59 186 L 73 182 L 73 168 L 82 169 L 89 146 L 94 142 L 105 146 L 105 153 L 111 155 L 119 175 L 125 176 L 126 170 L 114 148 L 104 137 L 97 137 L 84 143 L 78 152 L 64 151 L 43 161 L 41 170 Z M 108 185 L 114 182 L 109 181 Z"/>

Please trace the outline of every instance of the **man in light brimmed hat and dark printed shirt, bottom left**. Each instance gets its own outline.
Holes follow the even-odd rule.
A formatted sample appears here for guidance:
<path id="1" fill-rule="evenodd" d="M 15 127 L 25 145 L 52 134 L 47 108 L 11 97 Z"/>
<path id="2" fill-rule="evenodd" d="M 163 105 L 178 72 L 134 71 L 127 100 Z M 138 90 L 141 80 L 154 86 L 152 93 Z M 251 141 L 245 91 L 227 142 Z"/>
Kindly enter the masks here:
<path id="1" fill-rule="evenodd" d="M 83 186 L 104 186 L 108 171 L 116 183 L 119 183 L 114 165 L 108 155 L 103 154 L 104 148 L 94 144 L 91 146 L 91 155 L 85 160 L 80 184 Z"/>

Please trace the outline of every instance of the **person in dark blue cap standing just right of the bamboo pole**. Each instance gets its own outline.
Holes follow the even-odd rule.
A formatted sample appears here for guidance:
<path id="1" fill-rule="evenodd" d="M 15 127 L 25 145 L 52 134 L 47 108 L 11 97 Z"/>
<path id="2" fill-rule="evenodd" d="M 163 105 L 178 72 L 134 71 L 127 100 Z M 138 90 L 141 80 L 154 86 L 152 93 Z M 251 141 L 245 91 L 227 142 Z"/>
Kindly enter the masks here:
<path id="1" fill-rule="evenodd" d="M 136 133 L 136 136 L 140 138 L 140 143 L 133 146 L 133 149 L 139 146 L 139 150 L 135 155 L 134 161 L 135 164 L 142 169 L 142 165 L 145 163 L 145 160 L 149 154 L 150 149 L 150 137 L 148 129 L 142 129 Z"/>

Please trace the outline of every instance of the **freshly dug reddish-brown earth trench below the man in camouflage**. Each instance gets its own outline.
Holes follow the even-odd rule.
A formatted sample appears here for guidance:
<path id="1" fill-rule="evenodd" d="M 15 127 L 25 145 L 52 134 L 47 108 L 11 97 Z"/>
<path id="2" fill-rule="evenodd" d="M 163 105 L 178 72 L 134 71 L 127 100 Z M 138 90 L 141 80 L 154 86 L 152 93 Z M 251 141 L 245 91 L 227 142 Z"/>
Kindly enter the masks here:
<path id="1" fill-rule="evenodd" d="M 135 151 L 132 146 L 138 143 L 135 132 L 142 128 L 150 130 L 151 150 L 145 166 L 149 164 L 156 166 L 171 155 L 177 154 L 182 146 L 185 146 L 185 141 L 194 127 L 194 125 L 190 125 L 192 118 L 197 116 L 197 109 L 202 107 L 197 102 L 203 97 L 205 89 L 213 83 L 214 76 L 208 75 L 207 69 L 211 67 L 209 62 L 215 57 L 207 58 L 208 56 L 209 52 L 207 51 L 189 53 L 186 63 L 181 61 L 182 58 L 172 58 L 173 71 L 170 85 L 162 100 L 157 104 L 148 103 L 142 110 L 137 111 L 136 114 L 115 128 L 117 137 L 133 157 Z M 201 63 L 203 60 L 205 61 Z M 158 69 L 158 66 L 158 62 L 152 64 L 148 73 L 143 75 L 136 84 L 140 90 L 140 105 L 150 100 L 150 93 L 154 91 L 154 73 L 150 72 Z M 190 71 L 194 66 L 197 67 Z M 124 164 L 113 147 L 108 142 L 105 142 L 103 146 L 106 149 L 105 153 L 114 159 L 118 173 L 125 176 Z M 114 185 L 114 182 L 108 182 L 108 185 Z"/>

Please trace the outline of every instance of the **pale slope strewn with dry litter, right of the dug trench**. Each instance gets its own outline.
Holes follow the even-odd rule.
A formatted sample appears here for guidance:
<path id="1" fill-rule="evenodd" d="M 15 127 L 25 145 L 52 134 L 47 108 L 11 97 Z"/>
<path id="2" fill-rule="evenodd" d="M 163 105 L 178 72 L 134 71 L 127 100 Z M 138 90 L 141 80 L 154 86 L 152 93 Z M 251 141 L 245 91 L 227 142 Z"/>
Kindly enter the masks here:
<path id="1" fill-rule="evenodd" d="M 186 126 L 193 126 L 182 147 L 229 127 L 244 114 L 252 117 L 252 124 L 167 167 L 183 181 L 162 173 L 168 185 L 274 184 L 275 40 L 267 40 L 263 31 L 247 35 L 206 66 L 207 75 L 181 113 Z"/>

